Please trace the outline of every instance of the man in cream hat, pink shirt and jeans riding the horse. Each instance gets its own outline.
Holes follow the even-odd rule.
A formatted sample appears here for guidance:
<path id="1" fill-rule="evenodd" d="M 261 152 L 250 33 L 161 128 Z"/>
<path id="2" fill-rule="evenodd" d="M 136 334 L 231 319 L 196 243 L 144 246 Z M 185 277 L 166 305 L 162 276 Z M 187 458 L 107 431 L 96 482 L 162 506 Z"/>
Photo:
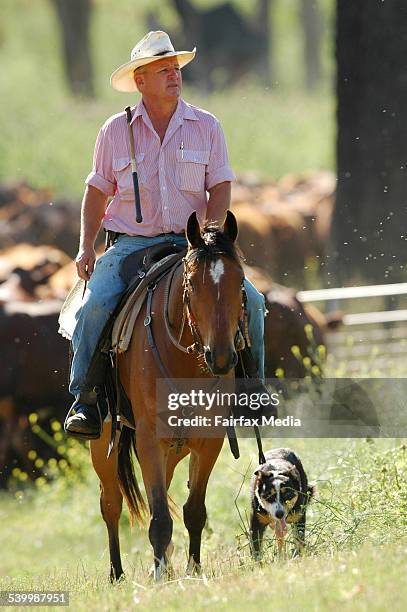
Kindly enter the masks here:
<path id="1" fill-rule="evenodd" d="M 195 49 L 175 51 L 165 32 L 150 32 L 134 47 L 130 62 L 111 76 L 114 89 L 142 96 L 132 109 L 131 128 L 143 221 L 136 222 L 128 126 L 122 112 L 99 132 L 82 202 L 76 266 L 80 278 L 89 282 L 72 338 L 69 390 L 76 399 L 65 423 L 72 435 L 95 438 L 101 433 L 96 392 L 87 373 L 99 336 L 126 289 L 119 275 L 123 259 L 168 240 L 186 246 L 184 229 L 192 211 L 201 224 L 222 224 L 230 205 L 234 175 L 219 122 L 180 97 L 181 68 L 194 56 Z M 95 266 L 94 243 L 102 224 L 119 236 Z M 245 285 L 249 333 L 262 378 L 264 298 L 248 281 Z"/>

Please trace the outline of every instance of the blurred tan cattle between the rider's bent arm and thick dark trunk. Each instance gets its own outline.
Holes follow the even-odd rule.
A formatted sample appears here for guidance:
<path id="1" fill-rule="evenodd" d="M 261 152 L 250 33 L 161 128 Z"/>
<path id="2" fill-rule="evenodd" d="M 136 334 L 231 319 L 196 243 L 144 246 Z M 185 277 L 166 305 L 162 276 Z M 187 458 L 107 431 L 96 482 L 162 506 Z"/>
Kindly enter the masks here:
<path id="1" fill-rule="evenodd" d="M 304 288 L 305 271 L 325 265 L 335 177 L 329 172 L 289 175 L 278 183 L 245 175 L 233 186 L 232 209 L 247 263 L 278 282 Z"/>

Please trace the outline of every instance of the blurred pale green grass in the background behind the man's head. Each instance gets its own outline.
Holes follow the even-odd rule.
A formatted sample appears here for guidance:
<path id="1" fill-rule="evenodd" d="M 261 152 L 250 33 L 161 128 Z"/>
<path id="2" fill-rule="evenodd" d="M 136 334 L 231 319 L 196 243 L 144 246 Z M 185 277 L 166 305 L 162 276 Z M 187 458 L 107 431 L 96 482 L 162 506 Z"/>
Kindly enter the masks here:
<path id="1" fill-rule="evenodd" d="M 50 187 L 57 197 L 79 200 L 100 125 L 138 99 L 114 92 L 108 78 L 145 31 L 146 6 L 146 0 L 95 2 L 92 41 L 97 96 L 84 101 L 74 100 L 67 90 L 51 3 L 2 0 L 0 181 L 25 178 L 35 187 Z M 168 3 L 155 1 L 152 6 L 165 23 L 176 26 Z M 333 168 L 332 37 L 328 37 L 332 2 L 326 1 L 324 7 L 326 78 L 313 94 L 302 89 L 295 4 L 281 0 L 275 9 L 276 68 L 271 90 L 260 87 L 255 78 L 207 97 L 185 90 L 188 100 L 221 120 L 236 172 L 255 170 L 277 179 L 288 172 Z"/>

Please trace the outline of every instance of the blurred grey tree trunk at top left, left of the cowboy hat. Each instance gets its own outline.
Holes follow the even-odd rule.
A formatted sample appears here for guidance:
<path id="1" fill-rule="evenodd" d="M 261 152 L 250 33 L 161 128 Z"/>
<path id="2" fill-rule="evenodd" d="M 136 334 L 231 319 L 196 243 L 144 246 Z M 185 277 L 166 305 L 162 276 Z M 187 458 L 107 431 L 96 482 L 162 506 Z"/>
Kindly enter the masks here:
<path id="1" fill-rule="evenodd" d="M 65 72 L 74 95 L 93 96 L 93 68 L 90 53 L 91 0 L 52 0 L 63 41 Z"/>

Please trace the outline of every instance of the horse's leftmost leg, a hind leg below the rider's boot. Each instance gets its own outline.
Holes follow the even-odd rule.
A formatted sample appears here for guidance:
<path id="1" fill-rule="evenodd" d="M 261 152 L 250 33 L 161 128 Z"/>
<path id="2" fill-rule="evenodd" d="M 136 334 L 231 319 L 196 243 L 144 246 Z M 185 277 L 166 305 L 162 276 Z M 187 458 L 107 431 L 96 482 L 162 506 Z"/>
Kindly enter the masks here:
<path id="1" fill-rule="evenodd" d="M 102 436 L 98 440 L 91 440 L 90 452 L 93 467 L 100 479 L 100 509 L 109 536 L 110 580 L 114 582 L 123 574 L 119 543 L 123 496 L 118 481 L 117 449 L 107 458 L 110 429 L 109 424 L 105 423 Z"/>

